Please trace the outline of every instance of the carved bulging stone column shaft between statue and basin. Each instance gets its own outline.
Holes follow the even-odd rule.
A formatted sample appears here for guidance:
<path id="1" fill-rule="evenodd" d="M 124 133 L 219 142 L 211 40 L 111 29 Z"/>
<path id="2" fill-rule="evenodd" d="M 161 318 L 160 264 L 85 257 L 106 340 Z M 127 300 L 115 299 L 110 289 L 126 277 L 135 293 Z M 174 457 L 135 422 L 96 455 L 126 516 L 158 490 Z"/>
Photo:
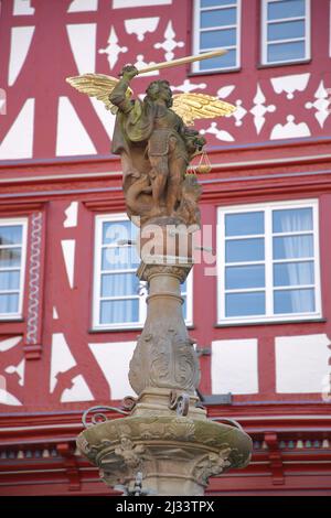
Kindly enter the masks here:
<path id="1" fill-rule="evenodd" d="M 149 401 L 158 410 L 162 404 L 169 409 L 170 392 L 196 401 L 199 360 L 184 324 L 180 293 L 180 282 L 185 281 L 191 267 L 142 262 L 138 269 L 139 278 L 148 281 L 149 295 L 146 324 L 129 371 L 130 385 L 139 396 L 135 413 L 149 408 Z"/>

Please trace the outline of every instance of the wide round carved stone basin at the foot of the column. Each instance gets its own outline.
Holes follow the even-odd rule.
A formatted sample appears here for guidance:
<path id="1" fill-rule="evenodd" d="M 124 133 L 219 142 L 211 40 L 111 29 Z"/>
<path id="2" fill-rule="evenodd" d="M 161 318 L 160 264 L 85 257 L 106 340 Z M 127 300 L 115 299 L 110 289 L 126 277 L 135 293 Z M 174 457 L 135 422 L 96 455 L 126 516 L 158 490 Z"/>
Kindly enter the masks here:
<path id="1" fill-rule="evenodd" d="M 210 476 L 244 467 L 252 450 L 235 427 L 171 412 L 96 424 L 77 445 L 109 486 L 132 487 L 139 471 L 145 488 L 158 495 L 203 495 Z"/>

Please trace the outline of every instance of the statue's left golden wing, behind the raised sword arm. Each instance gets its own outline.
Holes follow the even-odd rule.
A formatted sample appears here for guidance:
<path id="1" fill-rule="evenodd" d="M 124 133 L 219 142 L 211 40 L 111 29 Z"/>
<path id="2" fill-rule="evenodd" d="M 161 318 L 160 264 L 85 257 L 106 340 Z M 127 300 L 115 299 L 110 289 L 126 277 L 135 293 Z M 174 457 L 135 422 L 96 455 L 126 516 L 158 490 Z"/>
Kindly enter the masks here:
<path id="1" fill-rule="evenodd" d="M 117 111 L 117 107 L 109 100 L 109 94 L 114 90 L 119 82 L 116 77 L 106 76 L 105 74 L 83 74 L 82 76 L 67 77 L 66 82 L 76 90 L 82 94 L 87 94 L 89 97 L 96 97 L 102 100 L 107 110 L 113 114 Z M 131 88 L 127 89 L 127 97 L 131 97 L 134 91 Z"/>

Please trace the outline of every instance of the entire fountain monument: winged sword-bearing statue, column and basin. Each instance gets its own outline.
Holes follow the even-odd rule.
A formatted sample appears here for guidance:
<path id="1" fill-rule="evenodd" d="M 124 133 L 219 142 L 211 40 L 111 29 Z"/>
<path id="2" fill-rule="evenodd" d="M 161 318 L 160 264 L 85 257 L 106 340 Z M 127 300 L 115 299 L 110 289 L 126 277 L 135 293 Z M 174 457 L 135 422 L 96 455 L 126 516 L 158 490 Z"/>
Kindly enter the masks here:
<path id="1" fill-rule="evenodd" d="M 137 399 L 126 398 L 122 417 L 85 412 L 77 445 L 102 479 L 125 495 L 204 495 L 211 476 L 245 467 L 252 440 L 233 420 L 207 419 L 196 389 L 197 354 L 184 324 L 180 284 L 193 267 L 193 234 L 200 228 L 201 187 L 196 172 L 209 172 L 205 139 L 194 119 L 228 115 L 235 107 L 204 94 L 172 95 L 167 80 L 153 80 L 143 100 L 132 100 L 138 74 L 224 54 L 220 50 L 138 71 L 127 65 L 120 79 L 84 74 L 66 80 L 116 114 L 111 151 L 119 154 L 129 218 L 140 227 L 140 266 L 147 281 L 147 319 L 130 361 Z M 148 246 L 152 235 L 152 250 Z M 185 244 L 185 246 L 183 246 Z M 119 374 L 120 375 L 120 374 Z M 87 414 L 96 412 L 87 423 Z M 218 420 L 220 421 L 220 420 Z"/>

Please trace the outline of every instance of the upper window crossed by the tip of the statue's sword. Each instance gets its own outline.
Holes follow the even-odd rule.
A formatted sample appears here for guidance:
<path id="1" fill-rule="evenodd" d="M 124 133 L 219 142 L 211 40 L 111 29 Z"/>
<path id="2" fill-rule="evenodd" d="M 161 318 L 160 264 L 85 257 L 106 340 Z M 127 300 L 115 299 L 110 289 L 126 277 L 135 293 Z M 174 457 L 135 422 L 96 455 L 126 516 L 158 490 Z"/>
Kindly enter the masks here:
<path id="1" fill-rule="evenodd" d="M 213 72 L 239 66 L 241 0 L 195 0 L 193 53 L 226 48 L 220 57 L 193 63 L 193 72 Z"/>

